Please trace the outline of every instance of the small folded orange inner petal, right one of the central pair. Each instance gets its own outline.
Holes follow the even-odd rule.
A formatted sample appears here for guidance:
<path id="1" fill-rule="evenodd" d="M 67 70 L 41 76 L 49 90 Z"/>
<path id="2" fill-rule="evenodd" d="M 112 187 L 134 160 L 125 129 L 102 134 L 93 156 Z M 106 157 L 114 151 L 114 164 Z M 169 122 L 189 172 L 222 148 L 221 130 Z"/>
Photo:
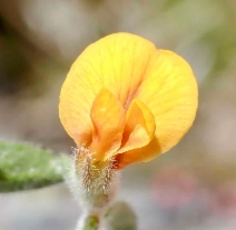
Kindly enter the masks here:
<path id="1" fill-rule="evenodd" d="M 117 153 L 147 146 L 155 133 L 151 111 L 138 99 L 132 100 L 127 113 L 122 143 Z"/>

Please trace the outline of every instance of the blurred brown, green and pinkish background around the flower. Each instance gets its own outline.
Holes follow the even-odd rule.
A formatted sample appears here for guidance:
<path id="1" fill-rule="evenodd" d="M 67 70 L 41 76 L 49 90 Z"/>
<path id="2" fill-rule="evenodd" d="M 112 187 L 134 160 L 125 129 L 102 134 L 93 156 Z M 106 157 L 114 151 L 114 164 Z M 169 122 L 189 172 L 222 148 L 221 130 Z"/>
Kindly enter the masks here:
<path id="1" fill-rule="evenodd" d="M 199 84 L 194 127 L 168 153 L 125 169 L 118 199 L 139 230 L 235 230 L 235 0 L 1 0 L 0 139 L 70 153 L 60 87 L 89 43 L 118 31 L 179 53 Z M 0 194 L 0 230 L 72 230 L 80 213 L 65 184 Z"/>

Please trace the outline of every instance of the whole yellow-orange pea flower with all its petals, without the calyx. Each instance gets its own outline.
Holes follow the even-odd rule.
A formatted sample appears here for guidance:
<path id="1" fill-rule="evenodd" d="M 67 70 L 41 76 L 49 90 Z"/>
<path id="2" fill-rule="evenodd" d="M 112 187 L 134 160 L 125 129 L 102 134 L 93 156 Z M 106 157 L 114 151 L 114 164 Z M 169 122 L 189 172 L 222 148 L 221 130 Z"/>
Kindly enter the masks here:
<path id="1" fill-rule="evenodd" d="M 191 127 L 197 83 L 188 63 L 138 36 L 115 33 L 75 61 L 60 93 L 60 120 L 94 159 L 118 168 L 149 161 Z"/>

